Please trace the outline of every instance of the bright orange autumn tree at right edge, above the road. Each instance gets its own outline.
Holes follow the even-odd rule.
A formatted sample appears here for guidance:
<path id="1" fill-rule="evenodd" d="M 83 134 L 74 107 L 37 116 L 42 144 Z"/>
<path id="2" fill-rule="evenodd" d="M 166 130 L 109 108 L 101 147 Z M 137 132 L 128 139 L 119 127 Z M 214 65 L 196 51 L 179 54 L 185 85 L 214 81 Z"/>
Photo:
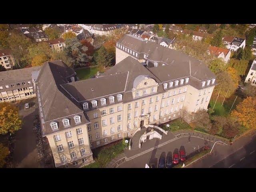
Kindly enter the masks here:
<path id="1" fill-rule="evenodd" d="M 231 116 L 238 119 L 238 122 L 249 129 L 255 129 L 256 124 L 256 97 L 247 97 L 240 102 Z"/>

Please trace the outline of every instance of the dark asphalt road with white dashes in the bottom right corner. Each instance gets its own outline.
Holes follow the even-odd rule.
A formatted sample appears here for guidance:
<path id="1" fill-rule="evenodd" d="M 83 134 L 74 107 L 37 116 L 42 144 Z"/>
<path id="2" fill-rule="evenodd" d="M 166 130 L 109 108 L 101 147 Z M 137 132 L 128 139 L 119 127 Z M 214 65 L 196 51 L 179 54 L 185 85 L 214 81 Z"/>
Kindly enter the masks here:
<path id="1" fill-rule="evenodd" d="M 211 168 L 256 168 L 256 136 Z"/>

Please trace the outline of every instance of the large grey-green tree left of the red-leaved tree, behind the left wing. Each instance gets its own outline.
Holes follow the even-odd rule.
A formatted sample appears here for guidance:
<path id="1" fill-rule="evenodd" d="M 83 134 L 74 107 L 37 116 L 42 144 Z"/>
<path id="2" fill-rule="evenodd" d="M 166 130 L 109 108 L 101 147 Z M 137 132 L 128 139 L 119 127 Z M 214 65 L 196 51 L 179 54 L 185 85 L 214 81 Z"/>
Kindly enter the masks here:
<path id="1" fill-rule="evenodd" d="M 85 53 L 88 48 L 83 46 L 77 38 L 66 39 L 65 43 L 64 52 L 67 56 L 68 63 L 73 67 L 84 66 L 86 62 L 90 61 L 91 57 Z"/>

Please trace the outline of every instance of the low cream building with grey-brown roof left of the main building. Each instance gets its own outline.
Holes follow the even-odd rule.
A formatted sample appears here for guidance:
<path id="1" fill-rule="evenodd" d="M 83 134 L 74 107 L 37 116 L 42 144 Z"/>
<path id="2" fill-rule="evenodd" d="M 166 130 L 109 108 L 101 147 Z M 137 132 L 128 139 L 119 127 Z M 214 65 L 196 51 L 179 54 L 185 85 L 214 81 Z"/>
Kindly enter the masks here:
<path id="1" fill-rule="evenodd" d="M 0 102 L 18 101 L 35 97 L 32 71 L 40 67 L 0 72 Z"/>

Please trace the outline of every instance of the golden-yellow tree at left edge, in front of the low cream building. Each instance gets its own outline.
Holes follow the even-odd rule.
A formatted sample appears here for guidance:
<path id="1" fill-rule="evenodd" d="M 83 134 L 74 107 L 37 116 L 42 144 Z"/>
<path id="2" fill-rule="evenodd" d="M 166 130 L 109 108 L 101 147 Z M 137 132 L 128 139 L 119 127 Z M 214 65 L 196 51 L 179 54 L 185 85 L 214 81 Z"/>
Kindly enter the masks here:
<path id="1" fill-rule="evenodd" d="M 18 108 L 10 103 L 0 103 L 0 134 L 14 133 L 21 128 Z"/>

